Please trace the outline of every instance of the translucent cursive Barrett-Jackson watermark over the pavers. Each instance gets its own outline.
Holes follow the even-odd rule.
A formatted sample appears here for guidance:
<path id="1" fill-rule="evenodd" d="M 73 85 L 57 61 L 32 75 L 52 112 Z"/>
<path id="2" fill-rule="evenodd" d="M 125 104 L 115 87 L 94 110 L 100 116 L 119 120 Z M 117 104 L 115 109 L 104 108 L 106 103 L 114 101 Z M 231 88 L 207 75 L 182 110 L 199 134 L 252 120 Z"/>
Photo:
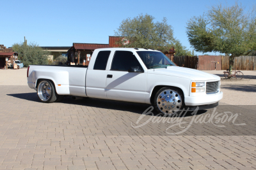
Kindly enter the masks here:
<path id="1" fill-rule="evenodd" d="M 153 124 L 159 124 L 159 123 L 170 124 L 170 126 L 166 128 L 166 133 L 171 134 L 171 135 L 177 135 L 177 134 L 182 134 L 183 132 L 188 131 L 189 127 L 191 127 L 191 125 L 193 123 L 195 123 L 195 124 L 212 124 L 212 125 L 215 125 L 216 127 L 226 127 L 224 125 L 226 122 L 228 122 L 228 123 L 232 122 L 232 124 L 237 125 L 237 126 L 246 125 L 244 123 L 243 124 L 235 123 L 237 117 L 239 116 L 238 113 L 233 114 L 230 111 L 224 111 L 223 113 L 218 113 L 216 111 L 216 108 L 214 108 L 212 113 L 206 113 L 206 114 L 196 116 L 198 109 L 199 108 L 197 107 L 195 111 L 190 113 L 193 116 L 191 117 L 190 122 L 186 122 L 184 119 L 188 118 L 188 117 L 184 117 L 184 116 L 188 112 L 189 108 L 188 108 L 188 110 L 183 109 L 182 111 L 180 111 L 179 114 L 173 113 L 170 115 L 168 115 L 168 114 L 154 115 L 154 113 L 152 113 L 152 111 L 154 110 L 154 107 L 150 106 L 149 108 L 147 108 L 147 110 L 145 110 L 140 115 L 136 124 L 134 125 L 131 123 L 131 126 L 133 128 L 140 128 L 140 127 L 143 127 L 144 125 L 147 125 L 150 122 Z M 142 122 L 142 119 L 148 115 L 149 115 L 148 119 L 146 121 Z M 179 126 L 180 129 L 182 129 L 182 130 L 179 132 L 168 132 L 169 129 L 172 129 L 175 126 Z"/>

